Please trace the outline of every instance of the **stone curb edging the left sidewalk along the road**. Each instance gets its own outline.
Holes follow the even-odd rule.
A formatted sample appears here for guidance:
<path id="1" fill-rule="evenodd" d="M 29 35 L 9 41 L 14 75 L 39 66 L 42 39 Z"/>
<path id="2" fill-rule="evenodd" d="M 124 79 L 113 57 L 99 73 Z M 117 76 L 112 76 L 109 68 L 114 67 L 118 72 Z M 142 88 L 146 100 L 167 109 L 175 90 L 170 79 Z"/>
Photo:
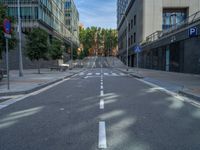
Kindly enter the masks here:
<path id="1" fill-rule="evenodd" d="M 79 72 L 81 72 L 81 71 L 79 71 Z M 73 73 L 73 74 L 71 74 L 71 75 L 67 75 L 67 76 L 65 76 L 65 77 L 63 77 L 63 78 L 54 80 L 54 81 L 52 81 L 52 82 L 45 83 L 45 84 L 43 84 L 43 85 L 37 86 L 37 87 L 35 87 L 35 88 L 29 89 L 29 90 L 26 90 L 26 91 L 0 93 L 0 96 L 13 96 L 13 95 L 30 94 L 30 93 L 32 93 L 32 92 L 38 91 L 38 90 L 40 90 L 40 89 L 43 89 L 43 88 L 45 88 L 45 87 L 47 87 L 47 86 L 49 86 L 49 85 L 52 85 L 52 84 L 57 83 L 57 82 L 60 82 L 60 81 L 62 81 L 62 80 L 64 80 L 64 79 L 67 79 L 67 78 L 69 78 L 69 77 L 72 77 L 72 76 L 78 74 L 79 72 Z"/>

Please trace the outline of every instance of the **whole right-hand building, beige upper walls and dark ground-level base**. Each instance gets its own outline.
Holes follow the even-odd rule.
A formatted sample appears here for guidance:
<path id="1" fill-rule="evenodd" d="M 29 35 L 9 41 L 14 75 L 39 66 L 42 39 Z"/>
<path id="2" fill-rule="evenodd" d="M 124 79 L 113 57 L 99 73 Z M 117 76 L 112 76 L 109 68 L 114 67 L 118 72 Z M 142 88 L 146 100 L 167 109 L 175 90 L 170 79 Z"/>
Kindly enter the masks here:
<path id="1" fill-rule="evenodd" d="M 124 62 L 128 46 L 129 65 L 136 66 L 134 48 L 141 45 L 140 67 L 200 73 L 199 0 L 131 0 L 126 3 L 125 15 L 118 20 L 119 57 Z M 188 32 L 192 27 L 197 35 L 191 38 Z"/>

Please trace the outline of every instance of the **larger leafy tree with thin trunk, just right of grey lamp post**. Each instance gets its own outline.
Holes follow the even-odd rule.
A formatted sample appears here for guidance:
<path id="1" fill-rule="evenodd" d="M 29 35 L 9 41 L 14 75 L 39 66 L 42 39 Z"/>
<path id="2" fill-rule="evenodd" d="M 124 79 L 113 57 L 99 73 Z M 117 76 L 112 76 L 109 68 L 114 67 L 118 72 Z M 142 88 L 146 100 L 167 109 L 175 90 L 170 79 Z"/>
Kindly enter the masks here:
<path id="1" fill-rule="evenodd" d="M 40 74 L 40 60 L 48 59 L 48 34 L 40 28 L 35 28 L 26 36 L 26 38 L 26 55 L 31 61 L 38 62 L 38 74 Z"/>

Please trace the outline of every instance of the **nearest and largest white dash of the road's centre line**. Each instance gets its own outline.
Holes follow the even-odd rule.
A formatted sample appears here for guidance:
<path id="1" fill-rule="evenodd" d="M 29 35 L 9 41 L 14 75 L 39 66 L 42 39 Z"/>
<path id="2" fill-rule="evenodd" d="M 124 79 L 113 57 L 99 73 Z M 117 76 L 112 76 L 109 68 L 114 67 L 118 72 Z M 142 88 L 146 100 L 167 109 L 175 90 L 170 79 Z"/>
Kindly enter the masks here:
<path id="1" fill-rule="evenodd" d="M 99 122 L 99 148 L 107 148 L 105 121 Z"/>

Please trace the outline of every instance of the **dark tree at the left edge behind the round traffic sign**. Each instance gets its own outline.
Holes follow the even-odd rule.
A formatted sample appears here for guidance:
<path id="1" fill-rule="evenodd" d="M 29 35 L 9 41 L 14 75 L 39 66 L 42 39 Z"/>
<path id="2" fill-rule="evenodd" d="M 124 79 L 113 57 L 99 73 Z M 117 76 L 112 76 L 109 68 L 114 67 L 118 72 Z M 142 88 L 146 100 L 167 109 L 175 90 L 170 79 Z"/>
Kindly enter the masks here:
<path id="1" fill-rule="evenodd" d="M 9 39 L 9 49 L 13 49 L 17 43 L 16 37 L 15 37 L 15 33 L 14 31 L 14 27 L 13 24 L 14 19 L 12 17 L 9 17 L 7 15 L 7 11 L 8 10 L 5 5 L 3 5 L 2 3 L 0 3 L 0 59 L 2 58 L 2 52 L 5 49 L 5 38 L 4 38 L 4 31 L 3 31 L 3 21 L 4 19 L 9 19 L 11 21 L 12 24 L 12 33 L 11 33 L 11 39 Z"/>

